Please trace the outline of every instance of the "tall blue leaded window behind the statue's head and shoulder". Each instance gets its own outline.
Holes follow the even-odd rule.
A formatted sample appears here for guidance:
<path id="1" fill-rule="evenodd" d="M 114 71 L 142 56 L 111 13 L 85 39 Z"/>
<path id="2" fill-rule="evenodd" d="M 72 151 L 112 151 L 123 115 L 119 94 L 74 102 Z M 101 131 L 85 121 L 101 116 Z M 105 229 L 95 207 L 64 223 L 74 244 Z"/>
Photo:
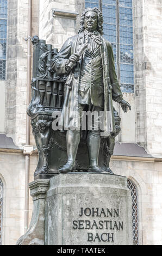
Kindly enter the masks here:
<path id="1" fill-rule="evenodd" d="M 121 90 L 134 93 L 132 0 L 85 0 L 103 13 L 104 38 L 111 42 Z"/>

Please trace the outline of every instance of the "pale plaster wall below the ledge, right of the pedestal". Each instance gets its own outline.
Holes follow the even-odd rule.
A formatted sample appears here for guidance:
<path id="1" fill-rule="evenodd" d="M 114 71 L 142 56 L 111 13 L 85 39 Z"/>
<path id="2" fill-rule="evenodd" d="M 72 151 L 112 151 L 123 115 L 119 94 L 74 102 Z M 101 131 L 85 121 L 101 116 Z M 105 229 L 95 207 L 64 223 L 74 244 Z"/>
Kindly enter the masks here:
<path id="1" fill-rule="evenodd" d="M 161 245 L 162 162 L 111 160 L 110 167 L 138 188 L 140 245 Z"/>

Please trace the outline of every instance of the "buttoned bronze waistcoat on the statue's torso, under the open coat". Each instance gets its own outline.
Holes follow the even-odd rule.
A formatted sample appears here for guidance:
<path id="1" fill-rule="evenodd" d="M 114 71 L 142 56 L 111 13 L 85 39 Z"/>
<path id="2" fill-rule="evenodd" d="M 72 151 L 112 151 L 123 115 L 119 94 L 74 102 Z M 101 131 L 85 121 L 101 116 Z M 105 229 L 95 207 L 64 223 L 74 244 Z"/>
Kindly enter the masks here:
<path id="1" fill-rule="evenodd" d="M 99 45 L 94 51 L 86 50 L 83 54 L 79 78 L 80 104 L 104 106 L 103 67 Z"/>

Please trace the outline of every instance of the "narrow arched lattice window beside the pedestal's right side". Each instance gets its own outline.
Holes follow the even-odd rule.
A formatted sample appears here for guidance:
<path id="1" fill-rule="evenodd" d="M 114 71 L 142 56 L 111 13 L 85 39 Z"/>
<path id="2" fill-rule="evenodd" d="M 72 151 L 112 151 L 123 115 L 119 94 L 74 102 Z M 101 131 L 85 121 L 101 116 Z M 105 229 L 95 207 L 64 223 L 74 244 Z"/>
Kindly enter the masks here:
<path id="1" fill-rule="evenodd" d="M 135 184 L 131 180 L 127 180 L 128 189 L 132 196 L 132 225 L 133 225 L 133 242 L 139 245 L 138 235 L 138 191 Z"/>

